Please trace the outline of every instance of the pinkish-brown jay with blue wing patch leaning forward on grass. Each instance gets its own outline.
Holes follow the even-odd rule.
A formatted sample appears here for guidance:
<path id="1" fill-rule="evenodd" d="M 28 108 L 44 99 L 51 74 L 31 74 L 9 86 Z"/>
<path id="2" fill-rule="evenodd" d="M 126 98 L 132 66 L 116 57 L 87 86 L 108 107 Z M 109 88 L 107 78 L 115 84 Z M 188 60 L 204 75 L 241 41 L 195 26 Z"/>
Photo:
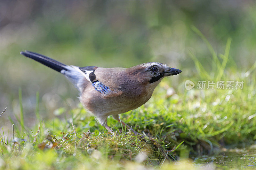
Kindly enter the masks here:
<path id="1" fill-rule="evenodd" d="M 120 119 L 119 114 L 142 106 L 151 98 L 164 77 L 182 72 L 158 62 L 142 63 L 130 68 L 78 67 L 27 50 L 20 54 L 63 74 L 80 92 L 79 99 L 83 107 L 111 133 L 113 130 L 107 124 L 110 115 L 138 135 Z"/>

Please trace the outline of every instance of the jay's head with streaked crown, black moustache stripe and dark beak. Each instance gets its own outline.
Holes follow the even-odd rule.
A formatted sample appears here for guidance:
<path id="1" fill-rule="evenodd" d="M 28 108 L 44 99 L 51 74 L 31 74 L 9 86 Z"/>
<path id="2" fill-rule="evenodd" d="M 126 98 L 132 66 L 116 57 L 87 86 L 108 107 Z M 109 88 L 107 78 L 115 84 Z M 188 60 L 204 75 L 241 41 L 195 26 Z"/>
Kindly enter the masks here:
<path id="1" fill-rule="evenodd" d="M 130 74 L 139 79 L 140 83 L 156 86 L 166 76 L 180 74 L 182 71 L 163 63 L 143 63 L 129 68 Z"/>

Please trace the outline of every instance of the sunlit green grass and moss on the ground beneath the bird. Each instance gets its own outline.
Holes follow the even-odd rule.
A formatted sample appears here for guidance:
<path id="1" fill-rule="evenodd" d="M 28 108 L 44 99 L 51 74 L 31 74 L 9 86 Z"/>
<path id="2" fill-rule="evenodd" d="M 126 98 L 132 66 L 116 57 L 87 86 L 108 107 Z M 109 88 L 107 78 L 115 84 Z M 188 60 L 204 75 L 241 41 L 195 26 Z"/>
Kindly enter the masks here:
<path id="1" fill-rule="evenodd" d="M 172 87 L 165 79 L 156 88 L 145 105 L 121 115 L 121 119 L 141 134 L 144 139 L 129 133 L 112 117 L 108 125 L 115 130 L 109 134 L 81 105 L 55 115 L 69 113 L 71 120 L 55 117 L 42 121 L 39 115 L 39 94 L 36 94 L 37 118 L 34 128 L 24 124 L 22 94 L 19 90 L 20 115 L 16 115 L 13 139 L 11 133 L 0 133 L 0 168 L 2 169 L 129 169 L 140 166 L 170 168 L 180 158 L 211 154 L 241 143 L 251 144 L 256 139 L 255 65 L 245 73 L 226 68 L 233 63 L 229 57 L 231 39 L 223 54 L 216 54 L 210 43 L 195 27 L 212 55 L 210 69 L 200 63 L 193 50 L 197 74 L 184 77 L 173 95 L 166 93 Z M 210 71 L 206 71 L 210 70 Z M 242 90 L 185 90 L 185 80 L 244 81 Z M 72 123 L 74 127 L 72 126 Z M 38 129 L 39 128 L 39 129 Z M 119 132 L 118 129 L 122 129 Z M 22 141 L 21 139 L 26 139 Z M 164 162 L 164 164 L 163 164 Z M 163 164 L 163 166 L 162 166 Z M 172 166 L 181 168 L 182 165 Z M 189 165 L 188 162 L 183 165 Z"/>

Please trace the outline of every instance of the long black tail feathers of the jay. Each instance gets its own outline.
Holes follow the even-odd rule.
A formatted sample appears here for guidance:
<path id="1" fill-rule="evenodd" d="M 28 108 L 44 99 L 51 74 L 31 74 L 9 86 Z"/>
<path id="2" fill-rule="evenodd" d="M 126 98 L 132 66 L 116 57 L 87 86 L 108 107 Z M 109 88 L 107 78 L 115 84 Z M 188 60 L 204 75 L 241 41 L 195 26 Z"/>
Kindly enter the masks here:
<path id="1" fill-rule="evenodd" d="M 31 58 L 33 60 L 36 60 L 39 63 L 42 63 L 50 68 L 52 68 L 53 70 L 56 71 L 61 71 L 61 70 L 68 70 L 67 69 L 67 65 L 62 64 L 56 60 L 53 60 L 52 58 L 49 58 L 47 56 L 44 56 L 42 54 L 38 54 L 38 53 L 34 53 L 31 51 L 27 51 L 25 50 L 25 52 L 21 51 L 20 54 L 25 55 L 28 58 Z"/>

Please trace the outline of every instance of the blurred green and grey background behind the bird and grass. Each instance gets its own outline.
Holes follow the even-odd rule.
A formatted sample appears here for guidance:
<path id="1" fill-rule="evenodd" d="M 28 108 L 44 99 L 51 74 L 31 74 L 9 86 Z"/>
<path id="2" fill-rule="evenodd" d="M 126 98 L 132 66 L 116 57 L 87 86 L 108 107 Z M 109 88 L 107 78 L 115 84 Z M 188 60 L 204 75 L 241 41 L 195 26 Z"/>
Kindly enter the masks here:
<path id="1" fill-rule="evenodd" d="M 247 71 L 255 62 L 254 1 L 0 1 L 0 124 L 10 127 L 22 99 L 26 125 L 34 125 L 36 92 L 40 115 L 79 104 L 78 92 L 60 73 L 20 55 L 30 50 L 62 63 L 131 67 L 162 62 L 182 70 L 168 78 L 177 91 L 197 73 L 192 50 L 208 71 L 212 54 L 192 31 L 198 28 L 218 54 L 232 39 L 227 69 Z M 64 101 L 64 102 L 63 102 Z M 68 115 L 67 115 L 68 116 Z M 7 128 L 8 129 L 8 128 Z"/>

